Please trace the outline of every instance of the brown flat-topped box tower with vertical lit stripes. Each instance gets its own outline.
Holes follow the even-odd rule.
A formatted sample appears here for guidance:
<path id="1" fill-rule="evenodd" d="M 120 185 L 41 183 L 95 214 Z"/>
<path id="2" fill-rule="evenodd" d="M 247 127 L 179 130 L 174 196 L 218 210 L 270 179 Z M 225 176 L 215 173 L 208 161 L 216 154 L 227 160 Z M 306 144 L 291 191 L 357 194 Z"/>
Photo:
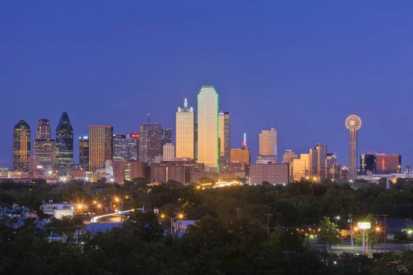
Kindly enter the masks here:
<path id="1" fill-rule="evenodd" d="M 89 125 L 89 171 L 105 168 L 112 160 L 112 138 L 114 126 Z"/>

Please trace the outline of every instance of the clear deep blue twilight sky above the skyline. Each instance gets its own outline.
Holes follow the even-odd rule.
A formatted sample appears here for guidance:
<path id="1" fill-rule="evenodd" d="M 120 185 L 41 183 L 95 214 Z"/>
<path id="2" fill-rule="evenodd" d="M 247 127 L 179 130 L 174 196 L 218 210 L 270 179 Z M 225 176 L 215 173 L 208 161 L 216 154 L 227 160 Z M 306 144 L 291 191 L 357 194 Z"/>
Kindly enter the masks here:
<path id="1" fill-rule="evenodd" d="M 231 146 L 261 129 L 286 148 L 317 142 L 348 165 L 346 117 L 360 116 L 359 152 L 413 164 L 412 1 L 19 1 L 0 4 L 0 167 L 12 168 L 12 130 L 35 135 L 63 111 L 79 135 L 153 122 L 175 128 L 202 85 L 231 111 Z"/>

